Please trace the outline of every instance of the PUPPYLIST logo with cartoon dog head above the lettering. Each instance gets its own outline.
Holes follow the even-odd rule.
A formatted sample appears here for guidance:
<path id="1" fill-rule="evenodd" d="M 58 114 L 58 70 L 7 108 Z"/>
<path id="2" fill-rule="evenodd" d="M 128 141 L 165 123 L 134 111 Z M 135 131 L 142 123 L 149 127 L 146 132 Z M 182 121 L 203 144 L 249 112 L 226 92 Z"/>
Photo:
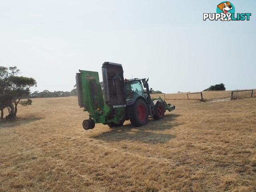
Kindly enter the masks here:
<path id="1" fill-rule="evenodd" d="M 250 21 L 251 13 L 235 14 L 235 6 L 228 1 L 223 1 L 217 5 L 216 13 L 204 13 L 204 21 Z"/>

